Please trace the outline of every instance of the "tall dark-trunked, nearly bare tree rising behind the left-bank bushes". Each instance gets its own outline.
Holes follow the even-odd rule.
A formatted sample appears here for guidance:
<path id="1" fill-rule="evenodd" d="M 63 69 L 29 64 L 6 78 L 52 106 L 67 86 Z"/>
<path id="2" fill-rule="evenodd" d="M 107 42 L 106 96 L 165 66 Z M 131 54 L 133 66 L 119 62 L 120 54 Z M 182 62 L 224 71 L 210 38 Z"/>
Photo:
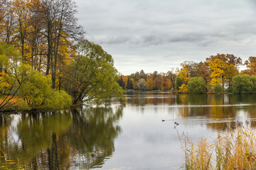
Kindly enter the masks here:
<path id="1" fill-rule="evenodd" d="M 43 35 L 47 39 L 46 75 L 51 73 L 53 89 L 58 74 L 57 63 L 63 59 L 61 47 L 68 49 L 72 40 L 82 40 L 84 31 L 75 17 L 77 8 L 72 0 L 42 0 L 38 8 L 43 24 Z M 65 57 L 64 57 L 65 58 Z M 65 65 L 63 65 L 65 67 Z"/>

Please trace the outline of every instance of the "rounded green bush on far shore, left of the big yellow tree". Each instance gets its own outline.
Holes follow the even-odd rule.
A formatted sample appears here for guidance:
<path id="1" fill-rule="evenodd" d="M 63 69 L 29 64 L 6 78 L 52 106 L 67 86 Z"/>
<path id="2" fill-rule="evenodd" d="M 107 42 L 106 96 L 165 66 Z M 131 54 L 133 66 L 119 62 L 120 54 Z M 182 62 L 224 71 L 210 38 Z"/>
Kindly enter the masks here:
<path id="1" fill-rule="evenodd" d="M 193 94 L 206 93 L 206 81 L 202 77 L 193 77 L 188 81 L 188 91 Z"/>

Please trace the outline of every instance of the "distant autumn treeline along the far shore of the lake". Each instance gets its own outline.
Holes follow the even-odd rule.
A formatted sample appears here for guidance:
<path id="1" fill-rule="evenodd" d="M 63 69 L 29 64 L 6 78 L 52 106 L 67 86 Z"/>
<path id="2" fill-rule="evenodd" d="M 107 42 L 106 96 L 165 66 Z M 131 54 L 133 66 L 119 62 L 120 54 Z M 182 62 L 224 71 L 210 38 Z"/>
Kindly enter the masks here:
<path id="1" fill-rule="evenodd" d="M 247 69 L 239 72 L 242 64 L 245 64 Z M 256 57 L 249 57 L 242 63 L 240 57 L 217 54 L 207 57 L 204 62 L 182 62 L 181 69 L 173 68 L 166 73 L 155 71 L 146 74 L 141 70 L 129 76 L 122 75 L 118 83 L 123 89 L 142 91 L 256 93 L 253 75 L 256 75 Z"/>

